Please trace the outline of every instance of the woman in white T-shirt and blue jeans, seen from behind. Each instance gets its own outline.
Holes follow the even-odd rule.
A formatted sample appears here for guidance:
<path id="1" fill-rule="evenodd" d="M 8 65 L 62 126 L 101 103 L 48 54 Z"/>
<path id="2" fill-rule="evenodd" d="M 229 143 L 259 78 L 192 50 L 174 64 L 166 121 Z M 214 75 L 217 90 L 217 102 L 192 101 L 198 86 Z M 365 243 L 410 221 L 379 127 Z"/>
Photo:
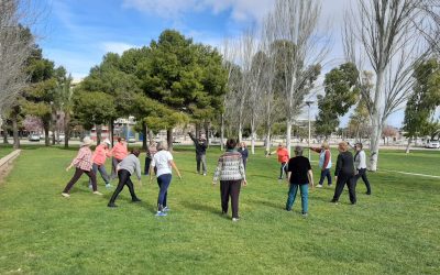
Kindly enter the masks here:
<path id="1" fill-rule="evenodd" d="M 157 153 L 154 154 L 153 161 L 150 166 L 150 182 L 153 180 L 153 168 L 156 168 L 156 177 L 158 185 L 158 196 L 157 196 L 157 217 L 165 217 L 169 211 L 167 205 L 168 187 L 172 183 L 172 168 L 176 170 L 177 176 L 182 179 L 180 172 L 178 170 L 176 164 L 173 161 L 173 155 L 168 151 L 168 145 L 166 142 L 157 143 Z"/>

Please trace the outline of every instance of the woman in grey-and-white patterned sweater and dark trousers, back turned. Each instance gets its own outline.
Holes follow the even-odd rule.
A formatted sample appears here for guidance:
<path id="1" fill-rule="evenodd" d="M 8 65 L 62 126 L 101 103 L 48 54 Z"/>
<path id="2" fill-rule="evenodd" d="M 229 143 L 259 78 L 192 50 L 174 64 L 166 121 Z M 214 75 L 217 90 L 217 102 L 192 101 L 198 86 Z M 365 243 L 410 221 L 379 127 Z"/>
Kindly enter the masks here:
<path id="1" fill-rule="evenodd" d="M 212 184 L 220 178 L 220 197 L 222 215 L 228 213 L 229 197 L 231 197 L 232 221 L 239 220 L 239 196 L 241 185 L 246 186 L 243 157 L 235 151 L 237 142 L 227 141 L 227 152 L 222 154 L 217 164 Z"/>

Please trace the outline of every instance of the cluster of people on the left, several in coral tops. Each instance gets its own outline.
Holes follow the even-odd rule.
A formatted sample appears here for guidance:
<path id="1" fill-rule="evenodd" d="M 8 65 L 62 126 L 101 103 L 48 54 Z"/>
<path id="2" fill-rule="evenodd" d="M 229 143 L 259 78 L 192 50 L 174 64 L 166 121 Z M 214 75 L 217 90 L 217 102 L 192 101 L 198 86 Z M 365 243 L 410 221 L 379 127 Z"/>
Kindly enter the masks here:
<path id="1" fill-rule="evenodd" d="M 102 196 L 102 194 L 98 191 L 96 179 L 96 174 L 99 170 L 107 188 L 111 188 L 111 179 L 116 177 L 119 178 L 118 186 L 111 196 L 110 201 L 108 202 L 108 207 L 117 207 L 114 202 L 124 186 L 129 188 L 133 202 L 141 201 L 134 191 L 134 185 L 131 180 L 131 176 L 136 175 L 140 185 L 142 185 L 141 163 L 139 161 L 139 155 L 141 152 L 139 150 L 132 150 L 129 154 L 127 143 L 122 138 L 118 138 L 118 143 L 111 150 L 109 148 L 111 143 L 108 139 L 98 145 L 95 148 L 95 152 L 91 152 L 90 150 L 92 143 L 94 141 L 89 136 L 84 138 L 77 156 L 66 168 L 66 170 L 69 170 L 75 166 L 75 174 L 67 183 L 62 196 L 66 198 L 70 197 L 69 193 L 72 187 L 78 182 L 82 174 L 86 174 L 89 177 L 92 194 Z M 107 174 L 105 166 L 107 157 L 112 157 L 111 176 Z M 167 151 L 166 143 L 151 144 L 147 151 L 145 163 L 148 165 L 148 168 L 146 169 L 145 167 L 144 173 L 152 175 L 152 170 L 154 170 L 157 177 L 157 184 L 160 186 L 156 216 L 166 216 L 166 212 L 169 211 L 166 199 L 167 189 L 172 180 L 172 168 L 176 170 L 179 178 L 182 178 L 180 173 L 173 161 L 173 155 Z M 150 176 L 150 180 L 152 180 L 152 176 Z"/>

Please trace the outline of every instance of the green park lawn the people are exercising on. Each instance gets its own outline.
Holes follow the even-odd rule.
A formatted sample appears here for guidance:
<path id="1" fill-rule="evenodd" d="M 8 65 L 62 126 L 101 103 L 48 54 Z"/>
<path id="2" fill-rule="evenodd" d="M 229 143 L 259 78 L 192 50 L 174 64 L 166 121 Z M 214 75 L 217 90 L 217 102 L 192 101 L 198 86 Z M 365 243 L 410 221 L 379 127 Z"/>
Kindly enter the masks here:
<path id="1" fill-rule="evenodd" d="M 193 150 L 176 148 L 184 180 L 173 179 L 165 218 L 154 217 L 158 188 L 145 176 L 136 186 L 141 204 L 124 189 L 119 208 L 109 209 L 101 179 L 103 197 L 90 194 L 85 177 L 69 199 L 61 196 L 76 151 L 24 150 L 0 186 L 0 274 L 440 273 L 440 180 L 372 173 L 373 196 L 360 183 L 356 206 L 346 190 L 333 205 L 333 188 L 316 188 L 304 219 L 299 198 L 293 212 L 283 210 L 278 164 L 257 153 L 233 223 L 220 216 L 219 187 L 211 186 L 218 148 L 208 151 L 208 177 L 195 174 Z M 435 174 L 438 165 L 430 167 Z"/>

